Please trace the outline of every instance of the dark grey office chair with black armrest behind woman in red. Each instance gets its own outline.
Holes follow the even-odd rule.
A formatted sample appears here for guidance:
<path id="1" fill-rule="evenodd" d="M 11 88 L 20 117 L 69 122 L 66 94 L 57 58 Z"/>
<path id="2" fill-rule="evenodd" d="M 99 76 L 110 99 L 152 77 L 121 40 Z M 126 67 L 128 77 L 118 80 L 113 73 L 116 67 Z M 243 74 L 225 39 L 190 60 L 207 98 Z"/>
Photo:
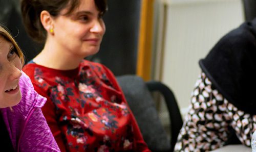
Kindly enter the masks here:
<path id="1" fill-rule="evenodd" d="M 152 151 L 173 151 L 182 117 L 173 92 L 163 83 L 144 82 L 136 75 L 117 77 L 125 98 L 138 122 L 145 142 Z M 166 103 L 170 119 L 170 139 L 159 119 L 152 92 L 160 92 Z"/>

